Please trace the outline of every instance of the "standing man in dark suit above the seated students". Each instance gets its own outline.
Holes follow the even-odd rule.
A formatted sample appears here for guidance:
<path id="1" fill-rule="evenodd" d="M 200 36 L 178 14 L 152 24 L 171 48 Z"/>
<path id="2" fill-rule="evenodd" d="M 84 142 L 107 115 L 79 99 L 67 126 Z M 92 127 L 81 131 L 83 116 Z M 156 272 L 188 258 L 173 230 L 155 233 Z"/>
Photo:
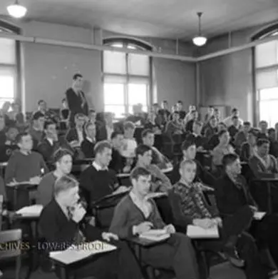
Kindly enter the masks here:
<path id="1" fill-rule="evenodd" d="M 74 125 L 74 116 L 76 116 L 76 113 L 83 113 L 88 116 L 88 102 L 82 91 L 82 86 L 83 76 L 80 73 L 76 73 L 73 76 L 73 85 L 66 91 L 66 100 L 68 102 L 68 108 L 71 111 L 71 125 Z"/>

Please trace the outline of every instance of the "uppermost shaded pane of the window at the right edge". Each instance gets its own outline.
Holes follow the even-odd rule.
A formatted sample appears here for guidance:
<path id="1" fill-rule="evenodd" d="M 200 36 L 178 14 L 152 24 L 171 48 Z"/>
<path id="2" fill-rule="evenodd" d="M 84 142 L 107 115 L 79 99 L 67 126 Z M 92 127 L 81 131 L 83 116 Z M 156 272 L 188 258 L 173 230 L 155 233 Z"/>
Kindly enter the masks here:
<path id="1" fill-rule="evenodd" d="M 256 46 L 256 67 L 265 67 L 278 62 L 278 41 L 269 41 Z"/>

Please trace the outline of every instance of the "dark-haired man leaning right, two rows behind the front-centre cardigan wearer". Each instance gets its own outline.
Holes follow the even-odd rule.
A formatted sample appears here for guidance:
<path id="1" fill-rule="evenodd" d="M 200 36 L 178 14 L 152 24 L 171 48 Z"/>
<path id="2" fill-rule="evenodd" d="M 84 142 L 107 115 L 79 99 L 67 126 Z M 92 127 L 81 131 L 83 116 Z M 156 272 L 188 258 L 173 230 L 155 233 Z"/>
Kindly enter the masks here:
<path id="1" fill-rule="evenodd" d="M 173 168 L 173 165 L 172 163 L 170 163 L 168 158 L 164 156 L 162 153 L 160 153 L 158 148 L 155 148 L 155 146 L 153 146 L 155 144 L 155 133 L 153 133 L 152 130 L 145 129 L 142 132 L 142 141 L 143 144 L 145 144 L 146 146 L 150 146 L 150 148 L 152 148 L 153 158 L 151 163 L 153 165 L 158 166 L 158 168 L 160 169 Z"/>

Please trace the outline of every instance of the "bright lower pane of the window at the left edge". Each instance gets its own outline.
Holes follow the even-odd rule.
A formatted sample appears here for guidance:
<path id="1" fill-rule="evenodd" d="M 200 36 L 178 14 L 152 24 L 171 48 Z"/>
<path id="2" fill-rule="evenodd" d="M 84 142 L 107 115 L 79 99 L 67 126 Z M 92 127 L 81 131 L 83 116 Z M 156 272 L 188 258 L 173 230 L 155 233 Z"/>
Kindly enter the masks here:
<path id="1" fill-rule="evenodd" d="M 9 69 L 0 69 L 0 98 L 13 99 L 15 96 L 14 72 Z"/>

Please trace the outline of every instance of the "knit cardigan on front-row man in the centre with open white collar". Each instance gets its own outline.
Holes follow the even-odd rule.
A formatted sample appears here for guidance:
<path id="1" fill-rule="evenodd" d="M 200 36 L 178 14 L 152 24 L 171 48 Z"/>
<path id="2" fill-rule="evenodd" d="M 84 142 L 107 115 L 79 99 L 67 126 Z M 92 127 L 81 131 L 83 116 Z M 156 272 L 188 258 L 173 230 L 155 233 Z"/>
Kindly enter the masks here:
<path id="1" fill-rule="evenodd" d="M 109 229 L 110 232 L 115 233 L 122 239 L 130 238 L 133 236 L 133 226 L 146 221 L 153 223 L 153 229 L 164 228 L 165 223 L 158 212 L 155 202 L 153 200 L 149 201 L 152 204 L 152 211 L 148 218 L 145 218 L 145 215 L 135 206 L 130 196 L 125 196 L 115 207 L 113 220 Z"/>

